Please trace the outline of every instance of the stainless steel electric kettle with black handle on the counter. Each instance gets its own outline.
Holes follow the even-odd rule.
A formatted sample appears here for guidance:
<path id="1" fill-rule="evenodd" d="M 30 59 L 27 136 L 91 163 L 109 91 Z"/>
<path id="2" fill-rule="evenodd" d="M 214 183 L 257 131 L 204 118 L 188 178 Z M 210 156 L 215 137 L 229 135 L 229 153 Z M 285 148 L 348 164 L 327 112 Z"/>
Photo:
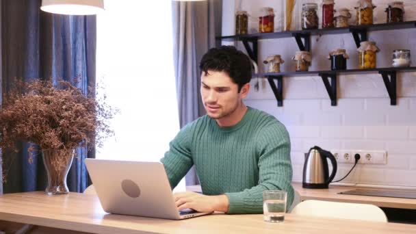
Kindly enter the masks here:
<path id="1" fill-rule="evenodd" d="M 327 158 L 333 164 L 333 171 L 330 176 L 328 176 Z M 302 187 L 328 188 L 329 183 L 335 177 L 335 173 L 337 173 L 337 160 L 334 155 L 318 146 L 313 146 L 309 149 L 309 153 L 305 154 Z"/>

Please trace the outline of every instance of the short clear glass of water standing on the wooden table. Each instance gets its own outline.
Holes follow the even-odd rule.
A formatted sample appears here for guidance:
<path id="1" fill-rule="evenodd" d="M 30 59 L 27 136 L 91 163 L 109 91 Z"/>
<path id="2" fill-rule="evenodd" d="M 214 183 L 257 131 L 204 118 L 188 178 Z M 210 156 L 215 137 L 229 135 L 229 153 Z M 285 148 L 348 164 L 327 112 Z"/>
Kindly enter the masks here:
<path id="1" fill-rule="evenodd" d="M 263 219 L 267 222 L 285 220 L 287 192 L 281 190 L 263 191 Z"/>

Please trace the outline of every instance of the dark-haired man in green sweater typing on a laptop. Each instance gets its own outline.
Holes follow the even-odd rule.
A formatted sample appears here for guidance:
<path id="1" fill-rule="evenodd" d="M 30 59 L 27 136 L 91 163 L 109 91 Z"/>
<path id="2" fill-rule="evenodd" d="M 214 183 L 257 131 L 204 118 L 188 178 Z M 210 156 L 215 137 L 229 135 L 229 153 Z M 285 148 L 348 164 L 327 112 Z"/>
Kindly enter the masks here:
<path id="1" fill-rule="evenodd" d="M 174 194 L 178 209 L 261 213 L 263 190 L 287 191 L 291 205 L 289 134 L 242 101 L 250 90 L 250 58 L 235 47 L 210 49 L 200 70 L 207 114 L 183 127 L 161 159 L 172 187 L 196 166 L 203 194 Z"/>

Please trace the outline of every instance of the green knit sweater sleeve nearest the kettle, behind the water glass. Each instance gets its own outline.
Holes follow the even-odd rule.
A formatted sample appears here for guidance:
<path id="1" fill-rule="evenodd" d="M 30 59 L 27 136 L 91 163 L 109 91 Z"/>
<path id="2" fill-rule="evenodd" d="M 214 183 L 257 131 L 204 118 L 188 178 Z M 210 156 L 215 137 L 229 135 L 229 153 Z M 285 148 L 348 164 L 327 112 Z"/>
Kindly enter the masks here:
<path id="1" fill-rule="evenodd" d="M 287 208 L 294 200 L 291 186 L 289 133 L 283 124 L 276 122 L 262 129 L 257 137 L 259 153 L 259 184 L 242 192 L 226 193 L 229 198 L 227 213 L 262 213 L 263 190 L 287 191 Z"/>

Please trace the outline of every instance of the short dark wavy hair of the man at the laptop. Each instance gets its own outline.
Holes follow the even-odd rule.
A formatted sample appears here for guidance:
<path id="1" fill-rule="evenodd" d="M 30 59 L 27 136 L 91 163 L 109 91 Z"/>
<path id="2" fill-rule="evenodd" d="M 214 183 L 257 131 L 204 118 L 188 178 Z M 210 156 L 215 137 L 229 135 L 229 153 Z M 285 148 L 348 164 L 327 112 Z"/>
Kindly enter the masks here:
<path id="1" fill-rule="evenodd" d="M 251 60 L 242 51 L 232 46 L 209 49 L 200 60 L 199 68 L 207 75 L 208 70 L 224 72 L 234 83 L 238 92 L 251 79 Z"/>

